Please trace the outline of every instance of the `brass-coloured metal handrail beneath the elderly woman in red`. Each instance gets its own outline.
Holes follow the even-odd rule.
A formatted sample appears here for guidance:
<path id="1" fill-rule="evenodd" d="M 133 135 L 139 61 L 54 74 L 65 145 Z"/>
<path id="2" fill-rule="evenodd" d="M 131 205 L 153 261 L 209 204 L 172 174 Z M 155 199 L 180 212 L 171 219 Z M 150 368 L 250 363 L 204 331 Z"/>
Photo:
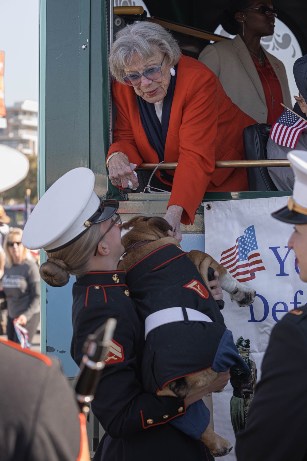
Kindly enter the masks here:
<path id="1" fill-rule="evenodd" d="M 137 170 L 154 170 L 157 163 L 141 163 Z M 161 163 L 157 170 L 174 170 L 178 165 L 177 162 Z M 275 166 L 291 166 L 287 159 L 282 160 L 217 160 L 215 168 L 260 168 L 260 167 L 275 167 Z"/>

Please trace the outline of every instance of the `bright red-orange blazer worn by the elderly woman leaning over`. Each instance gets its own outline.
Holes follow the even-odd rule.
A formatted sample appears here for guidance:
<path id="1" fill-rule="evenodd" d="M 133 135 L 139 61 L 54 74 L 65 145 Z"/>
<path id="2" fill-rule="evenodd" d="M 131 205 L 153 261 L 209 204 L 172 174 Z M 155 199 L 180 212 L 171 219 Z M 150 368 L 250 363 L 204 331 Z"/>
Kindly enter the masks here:
<path id="1" fill-rule="evenodd" d="M 231 78 L 231 76 L 230 76 Z M 117 108 L 114 142 L 108 155 L 126 154 L 130 163 L 158 163 L 143 130 L 134 89 L 114 82 Z M 200 61 L 182 56 L 165 143 L 164 161 L 178 162 L 169 205 L 180 205 L 181 222 L 193 224 L 206 191 L 248 190 L 245 168 L 215 169 L 215 160 L 244 158 L 242 130 L 256 121 L 226 95 L 219 79 Z M 168 183 L 160 177 L 163 183 Z"/>

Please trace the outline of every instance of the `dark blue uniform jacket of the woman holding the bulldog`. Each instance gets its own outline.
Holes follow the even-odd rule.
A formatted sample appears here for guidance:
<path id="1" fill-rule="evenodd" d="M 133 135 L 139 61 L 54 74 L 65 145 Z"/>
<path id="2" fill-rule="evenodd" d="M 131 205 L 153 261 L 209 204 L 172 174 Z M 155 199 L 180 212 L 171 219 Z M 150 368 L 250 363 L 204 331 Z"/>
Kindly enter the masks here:
<path id="1" fill-rule="evenodd" d="M 122 271 L 90 272 L 73 286 L 71 355 L 78 365 L 87 335 L 108 318 L 117 320 L 113 338 L 117 355 L 108 354 L 113 358 L 104 368 L 92 403 L 93 413 L 106 431 L 94 459 L 212 459 L 203 443 L 168 424 L 185 413 L 183 400 L 145 393 L 140 369 L 144 331 L 128 294 Z"/>

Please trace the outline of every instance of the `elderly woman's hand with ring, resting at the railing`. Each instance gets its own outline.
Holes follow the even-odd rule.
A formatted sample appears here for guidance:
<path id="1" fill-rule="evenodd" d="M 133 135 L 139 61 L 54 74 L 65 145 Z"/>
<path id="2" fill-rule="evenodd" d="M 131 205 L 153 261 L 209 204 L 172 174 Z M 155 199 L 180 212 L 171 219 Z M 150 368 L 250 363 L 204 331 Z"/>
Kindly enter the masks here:
<path id="1" fill-rule="evenodd" d="M 129 159 L 125 154 L 116 154 L 109 160 L 109 177 L 113 186 L 121 186 L 123 189 L 128 187 L 128 181 L 133 184 L 133 187 L 139 186 L 139 181 L 133 173 Z"/>

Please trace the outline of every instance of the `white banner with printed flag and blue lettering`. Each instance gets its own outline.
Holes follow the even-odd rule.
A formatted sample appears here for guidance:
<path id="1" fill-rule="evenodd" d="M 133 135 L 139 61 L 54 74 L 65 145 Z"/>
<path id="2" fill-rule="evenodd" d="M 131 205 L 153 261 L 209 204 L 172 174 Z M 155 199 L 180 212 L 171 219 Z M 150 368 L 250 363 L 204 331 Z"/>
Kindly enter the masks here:
<path id="1" fill-rule="evenodd" d="M 261 362 L 273 326 L 285 313 L 307 302 L 306 284 L 299 278 L 294 251 L 288 248 L 293 226 L 271 216 L 288 198 L 204 202 L 206 253 L 257 292 L 249 307 L 238 307 L 224 293 L 226 326 L 252 371 L 249 378 L 233 371 L 233 387 L 229 382 L 223 392 L 213 394 L 214 431 L 233 445 L 233 426 L 245 424 L 244 414 L 248 413 L 255 380 L 261 378 Z M 232 460 L 236 460 L 234 449 L 227 455 L 227 461 Z"/>

